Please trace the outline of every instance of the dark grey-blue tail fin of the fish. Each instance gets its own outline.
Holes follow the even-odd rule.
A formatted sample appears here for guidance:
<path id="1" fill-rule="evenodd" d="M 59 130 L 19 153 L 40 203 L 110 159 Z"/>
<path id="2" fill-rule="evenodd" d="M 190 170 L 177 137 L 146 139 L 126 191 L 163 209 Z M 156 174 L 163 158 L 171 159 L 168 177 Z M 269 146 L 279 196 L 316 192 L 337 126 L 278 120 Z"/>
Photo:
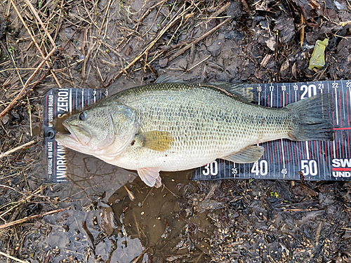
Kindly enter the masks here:
<path id="1" fill-rule="evenodd" d="M 300 121 L 289 134 L 291 140 L 334 140 L 333 98 L 330 93 L 318 94 L 286 106 Z"/>

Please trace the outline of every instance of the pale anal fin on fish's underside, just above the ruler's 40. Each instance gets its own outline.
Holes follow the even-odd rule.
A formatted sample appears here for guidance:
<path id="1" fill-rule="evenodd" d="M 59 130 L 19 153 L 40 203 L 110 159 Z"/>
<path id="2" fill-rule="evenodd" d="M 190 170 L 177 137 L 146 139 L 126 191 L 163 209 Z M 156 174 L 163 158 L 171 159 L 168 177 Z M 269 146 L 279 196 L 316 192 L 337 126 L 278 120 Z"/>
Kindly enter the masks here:
<path id="1" fill-rule="evenodd" d="M 221 159 L 233 161 L 234 163 L 254 163 L 263 156 L 264 151 L 265 148 L 262 146 L 251 145 L 234 154 L 222 157 Z"/>

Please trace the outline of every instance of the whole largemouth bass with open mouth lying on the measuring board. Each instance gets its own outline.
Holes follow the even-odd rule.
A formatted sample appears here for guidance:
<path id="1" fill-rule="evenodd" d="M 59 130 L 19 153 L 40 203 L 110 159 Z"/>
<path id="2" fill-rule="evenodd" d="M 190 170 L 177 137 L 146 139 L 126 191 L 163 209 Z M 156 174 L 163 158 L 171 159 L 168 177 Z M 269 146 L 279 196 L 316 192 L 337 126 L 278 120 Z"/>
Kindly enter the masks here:
<path id="1" fill-rule="evenodd" d="M 137 170 L 149 187 L 160 171 L 188 170 L 216 159 L 253 163 L 259 144 L 333 140 L 330 93 L 282 108 L 254 104 L 244 83 L 161 82 L 122 90 L 69 116 L 55 140 L 114 166 Z"/>

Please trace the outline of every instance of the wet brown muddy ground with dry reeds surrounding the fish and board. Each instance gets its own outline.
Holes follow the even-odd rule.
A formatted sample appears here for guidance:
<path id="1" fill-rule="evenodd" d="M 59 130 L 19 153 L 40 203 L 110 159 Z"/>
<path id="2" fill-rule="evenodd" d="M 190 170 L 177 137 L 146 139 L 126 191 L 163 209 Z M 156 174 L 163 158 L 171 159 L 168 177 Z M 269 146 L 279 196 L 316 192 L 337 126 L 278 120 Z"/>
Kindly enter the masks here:
<path id="1" fill-rule="evenodd" d="M 351 79 L 349 1 L 4 0 L 0 11 L 0 262 L 351 262 L 350 182 L 187 171 L 151 189 L 70 152 L 89 166 L 53 184 L 41 124 L 50 88 Z M 325 38 L 326 64 L 308 69 Z"/>

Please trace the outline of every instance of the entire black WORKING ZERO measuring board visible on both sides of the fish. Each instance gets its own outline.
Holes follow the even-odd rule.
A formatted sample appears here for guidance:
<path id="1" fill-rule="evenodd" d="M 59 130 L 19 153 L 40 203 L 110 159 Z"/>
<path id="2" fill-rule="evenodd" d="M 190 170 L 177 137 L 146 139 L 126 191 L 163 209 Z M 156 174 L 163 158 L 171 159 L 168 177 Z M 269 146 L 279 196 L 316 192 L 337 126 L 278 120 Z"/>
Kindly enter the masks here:
<path id="1" fill-rule="evenodd" d="M 351 81 L 314 81 L 307 83 L 246 84 L 242 93 L 253 103 L 284 107 L 319 93 L 331 93 L 335 102 L 333 142 L 293 142 L 276 140 L 260 144 L 265 148 L 256 163 L 238 164 L 217 159 L 197 168 L 192 180 L 270 179 L 351 180 Z M 44 147 L 47 173 L 53 182 L 67 180 L 67 152 L 55 141 L 55 123 L 108 95 L 107 90 L 53 88 L 44 97 Z M 60 127 L 58 125 L 57 127 Z"/>

